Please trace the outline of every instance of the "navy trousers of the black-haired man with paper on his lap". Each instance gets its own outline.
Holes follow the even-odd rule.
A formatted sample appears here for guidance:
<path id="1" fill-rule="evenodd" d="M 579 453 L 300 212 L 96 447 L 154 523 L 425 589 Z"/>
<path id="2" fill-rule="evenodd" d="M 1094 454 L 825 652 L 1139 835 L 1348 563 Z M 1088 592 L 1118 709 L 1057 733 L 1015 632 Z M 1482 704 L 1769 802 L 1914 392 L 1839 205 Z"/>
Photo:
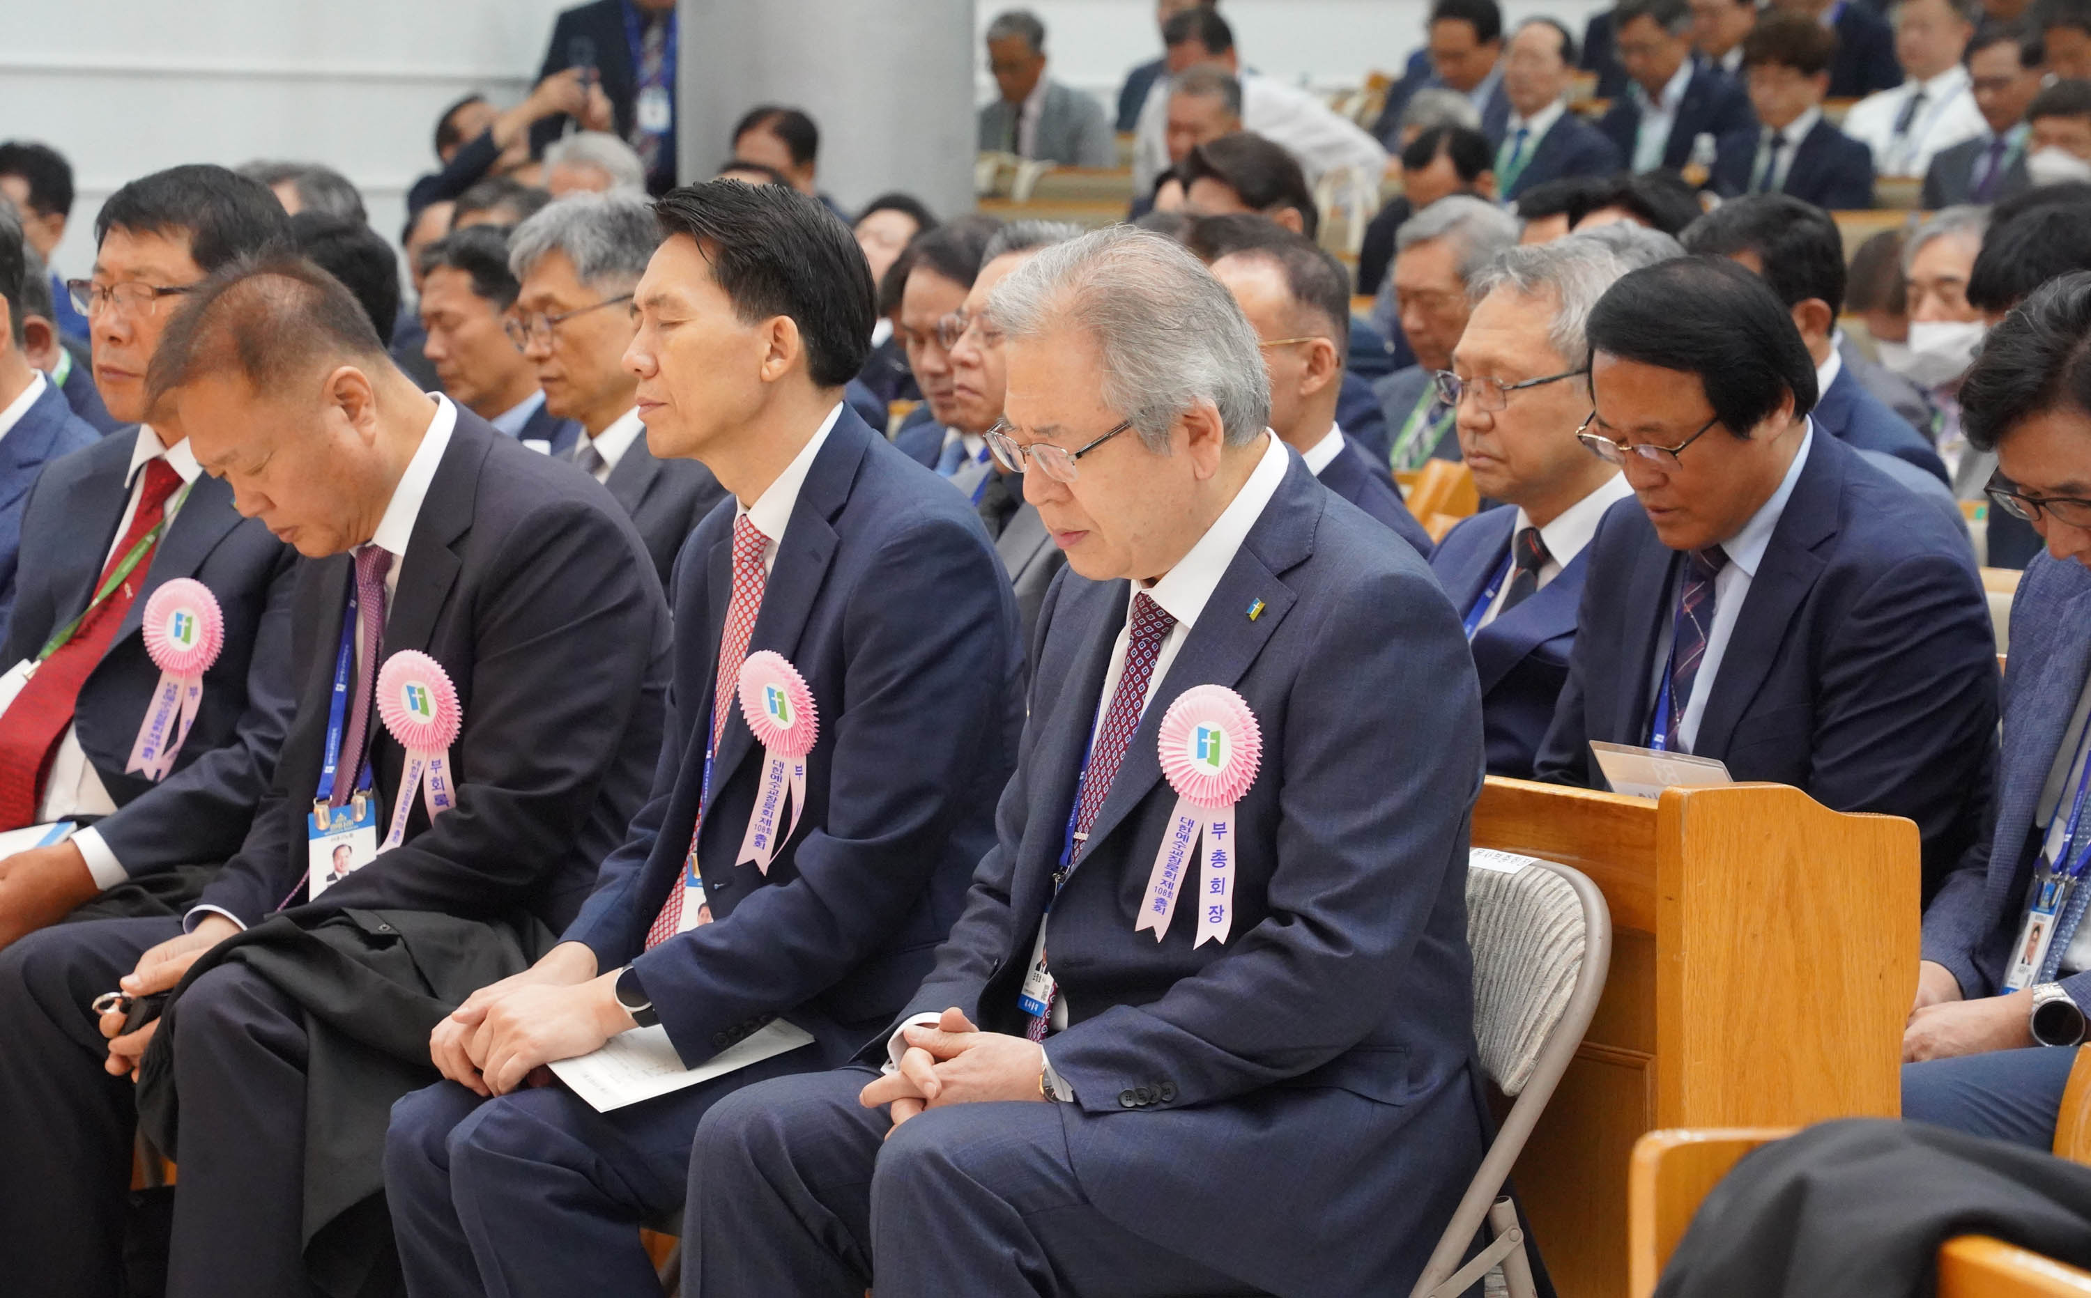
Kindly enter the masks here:
<path id="1" fill-rule="evenodd" d="M 414 1298 L 631 1294 L 661 1281 L 640 1227 L 682 1208 L 698 1118 L 820 1066 L 815 1045 L 598 1114 L 550 1085 L 481 1099 L 443 1081 L 393 1106 L 385 1200 Z"/>

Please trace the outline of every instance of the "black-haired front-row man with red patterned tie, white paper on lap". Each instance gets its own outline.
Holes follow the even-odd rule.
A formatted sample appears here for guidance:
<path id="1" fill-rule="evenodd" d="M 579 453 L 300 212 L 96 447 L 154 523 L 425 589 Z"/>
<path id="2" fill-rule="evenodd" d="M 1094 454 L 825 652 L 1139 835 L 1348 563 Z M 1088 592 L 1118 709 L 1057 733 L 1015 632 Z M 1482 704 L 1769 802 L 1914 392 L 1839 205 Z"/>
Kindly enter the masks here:
<path id="1" fill-rule="evenodd" d="M 874 316 L 851 232 L 786 186 L 657 213 L 625 364 L 648 447 L 734 508 L 675 562 L 652 798 L 567 938 L 437 1026 L 450 1081 L 393 1110 L 412 1294 L 659 1294 L 640 1227 L 682 1204 L 698 1118 L 884 1035 L 1016 757 L 1016 604 L 972 504 L 843 401 Z M 663 1076 L 728 1049 L 746 1066 Z M 562 1060 L 573 1089 L 531 1085 Z"/>

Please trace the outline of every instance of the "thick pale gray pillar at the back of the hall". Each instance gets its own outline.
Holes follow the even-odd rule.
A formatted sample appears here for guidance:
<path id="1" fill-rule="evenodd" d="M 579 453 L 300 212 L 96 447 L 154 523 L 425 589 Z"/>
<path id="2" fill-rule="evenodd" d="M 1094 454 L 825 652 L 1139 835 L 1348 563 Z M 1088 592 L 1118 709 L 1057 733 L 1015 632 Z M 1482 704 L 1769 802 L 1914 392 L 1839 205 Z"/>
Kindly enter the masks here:
<path id="1" fill-rule="evenodd" d="M 820 188 L 845 209 L 905 190 L 972 211 L 972 0 L 680 0 L 680 173 L 726 161 L 761 102 L 820 123 Z"/>

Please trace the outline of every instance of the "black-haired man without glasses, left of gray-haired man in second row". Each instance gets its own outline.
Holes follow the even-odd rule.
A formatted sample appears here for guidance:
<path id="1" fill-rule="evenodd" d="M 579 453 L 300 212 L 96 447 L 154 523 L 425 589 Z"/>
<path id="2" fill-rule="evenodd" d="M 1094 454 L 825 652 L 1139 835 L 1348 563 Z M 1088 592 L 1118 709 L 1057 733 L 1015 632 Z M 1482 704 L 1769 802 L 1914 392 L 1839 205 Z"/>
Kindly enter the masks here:
<path id="1" fill-rule="evenodd" d="M 544 408 L 537 366 L 508 337 L 523 284 L 508 270 L 508 236 L 458 230 L 420 255 L 420 320 L 443 393 L 533 451 L 571 458 L 581 424 Z"/>

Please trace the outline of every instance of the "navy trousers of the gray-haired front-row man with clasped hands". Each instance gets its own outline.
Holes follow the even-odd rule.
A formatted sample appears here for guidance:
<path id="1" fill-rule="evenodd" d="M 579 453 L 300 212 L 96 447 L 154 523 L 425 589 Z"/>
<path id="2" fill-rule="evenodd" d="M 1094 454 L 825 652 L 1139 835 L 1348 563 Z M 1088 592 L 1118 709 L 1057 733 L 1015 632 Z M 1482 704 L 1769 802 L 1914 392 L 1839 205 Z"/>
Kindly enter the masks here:
<path id="1" fill-rule="evenodd" d="M 690 1152 L 684 1294 L 1064 1298 L 1255 1294 L 1098 1212 L 1069 1160 L 1062 1104 L 958 1104 L 889 1133 L 841 1068 L 746 1087 Z M 1138 1120 L 1119 1116 L 1115 1120 Z M 874 1265 L 876 1258 L 876 1265 Z"/>

